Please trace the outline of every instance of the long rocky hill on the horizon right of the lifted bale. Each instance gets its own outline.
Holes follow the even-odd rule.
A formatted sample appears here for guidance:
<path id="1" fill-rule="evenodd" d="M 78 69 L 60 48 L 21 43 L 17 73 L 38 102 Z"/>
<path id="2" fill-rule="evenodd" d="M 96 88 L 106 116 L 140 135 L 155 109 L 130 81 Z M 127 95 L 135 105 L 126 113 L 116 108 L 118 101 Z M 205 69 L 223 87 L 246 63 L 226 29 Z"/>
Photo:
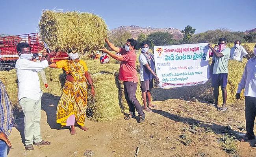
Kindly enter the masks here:
<path id="1" fill-rule="evenodd" d="M 115 29 L 112 29 L 111 32 L 115 32 L 115 31 L 118 31 L 120 29 L 124 29 L 128 32 L 130 32 L 132 34 L 132 38 L 137 38 L 139 36 L 140 33 L 144 33 L 145 35 L 147 34 L 150 34 L 150 33 L 153 33 L 153 32 L 169 32 L 171 34 L 173 34 L 173 37 L 175 39 L 180 39 L 182 38 L 182 33 L 180 32 L 179 29 L 176 29 L 176 28 L 152 28 L 152 27 L 146 27 L 146 28 L 143 28 L 143 27 L 139 27 L 139 26 L 135 26 L 135 25 L 132 25 L 132 26 L 119 26 Z"/>

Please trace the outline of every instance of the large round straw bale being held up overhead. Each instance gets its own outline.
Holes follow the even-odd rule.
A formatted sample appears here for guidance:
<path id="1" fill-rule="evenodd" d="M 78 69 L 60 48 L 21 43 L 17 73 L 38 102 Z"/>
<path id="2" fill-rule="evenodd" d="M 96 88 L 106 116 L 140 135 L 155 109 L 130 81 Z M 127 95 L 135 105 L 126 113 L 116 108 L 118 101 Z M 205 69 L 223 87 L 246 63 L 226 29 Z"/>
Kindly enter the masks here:
<path id="1" fill-rule="evenodd" d="M 92 13 L 44 11 L 39 27 L 48 47 L 63 52 L 100 49 L 107 37 L 106 23 Z"/>

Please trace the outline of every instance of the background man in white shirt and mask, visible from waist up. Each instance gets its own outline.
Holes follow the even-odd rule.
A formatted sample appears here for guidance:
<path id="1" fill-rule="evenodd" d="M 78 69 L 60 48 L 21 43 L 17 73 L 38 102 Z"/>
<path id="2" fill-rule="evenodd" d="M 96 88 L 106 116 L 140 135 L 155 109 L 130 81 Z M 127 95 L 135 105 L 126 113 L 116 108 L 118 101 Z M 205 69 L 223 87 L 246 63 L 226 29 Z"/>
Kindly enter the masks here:
<path id="1" fill-rule="evenodd" d="M 232 47 L 230 50 L 230 60 L 238 60 L 239 62 L 242 62 L 243 57 L 246 57 L 248 60 L 250 59 L 250 56 L 245 48 L 241 46 L 241 42 L 236 40 L 234 42 L 234 47 Z"/>

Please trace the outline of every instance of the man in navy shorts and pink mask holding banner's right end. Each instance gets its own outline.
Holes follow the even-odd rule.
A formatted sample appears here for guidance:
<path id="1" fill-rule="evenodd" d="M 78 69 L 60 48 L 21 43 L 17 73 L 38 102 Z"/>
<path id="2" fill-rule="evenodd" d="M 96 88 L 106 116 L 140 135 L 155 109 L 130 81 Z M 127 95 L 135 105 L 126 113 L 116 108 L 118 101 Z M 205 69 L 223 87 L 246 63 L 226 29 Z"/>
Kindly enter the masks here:
<path id="1" fill-rule="evenodd" d="M 226 47 L 226 38 L 219 39 L 219 50 L 215 50 L 211 44 L 208 47 L 213 52 L 212 63 L 210 70 L 212 71 L 211 86 L 215 98 L 214 106 L 218 106 L 219 100 L 219 86 L 221 86 L 223 104 L 220 108 L 221 111 L 226 111 L 227 90 L 226 85 L 228 82 L 228 60 L 230 58 L 230 49 Z"/>

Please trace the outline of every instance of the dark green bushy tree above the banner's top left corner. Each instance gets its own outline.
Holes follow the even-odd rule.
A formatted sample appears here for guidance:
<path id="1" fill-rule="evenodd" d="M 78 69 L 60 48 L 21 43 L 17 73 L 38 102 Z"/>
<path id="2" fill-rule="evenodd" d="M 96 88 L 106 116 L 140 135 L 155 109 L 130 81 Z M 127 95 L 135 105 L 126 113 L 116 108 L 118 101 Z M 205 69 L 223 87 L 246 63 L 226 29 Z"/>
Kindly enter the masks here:
<path id="1" fill-rule="evenodd" d="M 175 40 L 173 35 L 168 32 L 154 32 L 147 35 L 147 42 L 152 48 L 152 46 L 173 45 Z"/>

